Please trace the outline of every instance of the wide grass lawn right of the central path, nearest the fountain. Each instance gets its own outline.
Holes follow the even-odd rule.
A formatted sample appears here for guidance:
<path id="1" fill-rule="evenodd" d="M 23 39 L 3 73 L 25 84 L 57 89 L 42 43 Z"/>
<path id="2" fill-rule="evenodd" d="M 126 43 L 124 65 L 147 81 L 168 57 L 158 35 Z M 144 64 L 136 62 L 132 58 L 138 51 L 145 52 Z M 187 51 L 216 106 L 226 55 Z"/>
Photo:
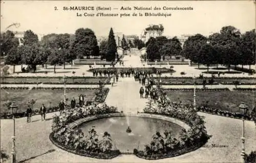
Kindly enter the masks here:
<path id="1" fill-rule="evenodd" d="M 164 90 L 171 101 L 185 104 L 193 103 L 193 90 Z M 241 102 L 248 105 L 249 112 L 254 107 L 255 91 L 230 91 L 230 90 L 197 90 L 196 102 L 198 106 L 207 105 L 232 112 L 239 112 Z"/>

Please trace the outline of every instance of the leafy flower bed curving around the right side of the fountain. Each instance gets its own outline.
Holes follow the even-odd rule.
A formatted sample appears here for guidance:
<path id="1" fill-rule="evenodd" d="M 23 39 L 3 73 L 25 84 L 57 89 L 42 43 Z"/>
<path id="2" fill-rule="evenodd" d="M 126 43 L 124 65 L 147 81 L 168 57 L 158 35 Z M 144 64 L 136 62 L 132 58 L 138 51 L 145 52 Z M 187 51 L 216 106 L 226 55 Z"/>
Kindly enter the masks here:
<path id="1" fill-rule="evenodd" d="M 134 149 L 134 154 L 144 159 L 161 159 L 178 156 L 202 147 L 211 137 L 205 130 L 203 117 L 191 107 L 171 103 L 161 90 L 158 90 L 158 94 L 161 100 L 157 101 L 157 107 L 153 111 L 151 107 L 145 107 L 144 112 L 181 120 L 191 128 L 187 131 L 183 129 L 178 139 L 173 138 L 172 132 L 168 130 L 163 133 L 165 136 L 156 132 L 153 135 L 153 141 L 145 146 L 144 151 Z"/>

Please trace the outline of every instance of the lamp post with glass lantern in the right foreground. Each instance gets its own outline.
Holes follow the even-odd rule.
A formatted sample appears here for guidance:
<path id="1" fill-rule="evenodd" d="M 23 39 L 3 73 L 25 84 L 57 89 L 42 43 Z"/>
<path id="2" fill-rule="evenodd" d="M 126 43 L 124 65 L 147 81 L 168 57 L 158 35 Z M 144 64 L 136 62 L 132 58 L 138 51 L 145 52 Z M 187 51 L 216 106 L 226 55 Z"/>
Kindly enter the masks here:
<path id="1" fill-rule="evenodd" d="M 242 151 L 241 151 L 241 156 L 242 156 L 242 162 L 245 163 L 245 147 L 244 147 L 244 142 L 245 142 L 245 137 L 244 137 L 244 116 L 246 115 L 248 111 L 248 106 L 245 105 L 245 103 L 241 103 L 239 105 L 240 113 L 243 115 L 242 121 L 243 121 L 243 129 L 242 129 Z"/>

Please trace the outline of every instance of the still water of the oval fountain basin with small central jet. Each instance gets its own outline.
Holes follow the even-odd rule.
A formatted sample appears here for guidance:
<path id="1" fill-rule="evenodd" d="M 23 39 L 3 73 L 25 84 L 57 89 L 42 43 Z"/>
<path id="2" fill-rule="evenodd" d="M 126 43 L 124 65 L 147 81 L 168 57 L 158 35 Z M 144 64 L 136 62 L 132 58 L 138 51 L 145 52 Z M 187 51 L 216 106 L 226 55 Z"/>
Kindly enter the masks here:
<path id="1" fill-rule="evenodd" d="M 99 137 L 103 136 L 105 131 L 111 134 L 113 145 L 142 145 L 149 144 L 153 139 L 152 136 L 156 131 L 164 136 L 165 130 L 172 131 L 172 137 L 178 137 L 179 132 L 183 129 L 181 126 L 159 119 L 144 117 L 112 117 L 93 120 L 83 123 L 78 127 L 82 129 L 85 135 L 88 135 L 89 129 L 95 126 L 95 130 Z M 130 126 L 132 132 L 127 133 L 126 129 Z M 101 139 L 101 138 L 100 138 Z"/>

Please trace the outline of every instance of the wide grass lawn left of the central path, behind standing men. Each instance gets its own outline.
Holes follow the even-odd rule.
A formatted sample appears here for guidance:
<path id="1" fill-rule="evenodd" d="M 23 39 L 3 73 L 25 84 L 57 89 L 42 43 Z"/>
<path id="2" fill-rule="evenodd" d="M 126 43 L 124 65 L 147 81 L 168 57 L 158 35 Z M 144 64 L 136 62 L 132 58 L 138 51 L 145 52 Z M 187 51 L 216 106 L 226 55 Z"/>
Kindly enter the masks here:
<path id="1" fill-rule="evenodd" d="M 67 103 L 70 104 L 71 99 L 74 97 L 78 103 L 78 96 L 80 94 L 86 95 L 84 101 L 90 100 L 94 97 L 97 90 L 66 90 L 68 98 Z M 23 112 L 28 106 L 29 100 L 36 100 L 33 108 L 40 108 L 41 104 L 44 103 L 46 107 L 58 106 L 60 100 L 63 100 L 63 90 L 1 90 L 1 112 L 11 112 L 5 105 L 8 101 L 15 101 L 18 105 L 18 112 Z"/>

